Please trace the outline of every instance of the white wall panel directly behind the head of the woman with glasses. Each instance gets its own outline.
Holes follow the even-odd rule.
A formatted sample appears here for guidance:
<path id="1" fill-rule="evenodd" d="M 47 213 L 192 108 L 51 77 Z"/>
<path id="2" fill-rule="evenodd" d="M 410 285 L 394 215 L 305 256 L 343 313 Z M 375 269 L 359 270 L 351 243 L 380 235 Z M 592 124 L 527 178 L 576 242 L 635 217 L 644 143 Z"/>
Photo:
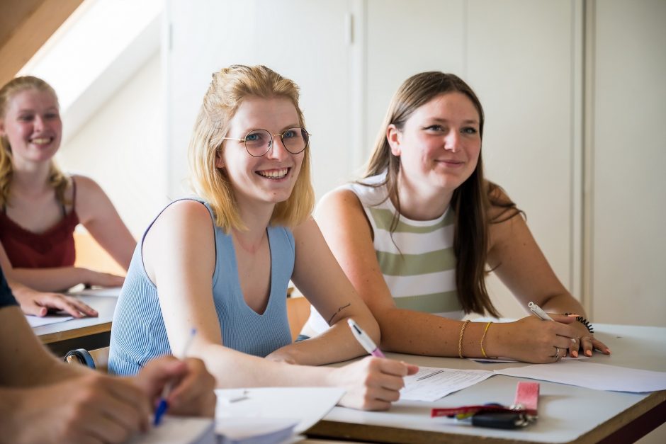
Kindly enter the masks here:
<path id="1" fill-rule="evenodd" d="M 312 133 L 317 195 L 349 178 L 353 125 L 346 1 L 169 1 L 169 160 L 172 193 L 186 192 L 188 140 L 211 74 L 265 64 L 296 82 Z M 211 17 L 218 19 L 211 20 Z"/>

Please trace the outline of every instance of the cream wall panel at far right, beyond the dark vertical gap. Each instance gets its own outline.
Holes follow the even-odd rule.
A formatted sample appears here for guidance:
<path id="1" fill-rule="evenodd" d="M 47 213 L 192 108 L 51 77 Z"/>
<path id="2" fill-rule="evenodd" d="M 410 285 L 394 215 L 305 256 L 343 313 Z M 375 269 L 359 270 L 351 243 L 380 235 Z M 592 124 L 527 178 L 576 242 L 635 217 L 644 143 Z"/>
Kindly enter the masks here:
<path id="1" fill-rule="evenodd" d="M 665 326 L 666 1 L 597 1 L 594 18 L 592 314 Z"/>

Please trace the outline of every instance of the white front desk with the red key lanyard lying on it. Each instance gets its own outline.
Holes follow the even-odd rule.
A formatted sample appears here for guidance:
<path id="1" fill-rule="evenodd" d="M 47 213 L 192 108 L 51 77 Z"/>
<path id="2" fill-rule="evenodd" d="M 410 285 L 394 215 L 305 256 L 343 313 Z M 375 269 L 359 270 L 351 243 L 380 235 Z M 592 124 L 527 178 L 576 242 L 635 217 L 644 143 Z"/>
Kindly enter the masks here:
<path id="1" fill-rule="evenodd" d="M 595 353 L 589 362 L 666 371 L 666 328 L 595 325 L 595 336 L 613 355 Z M 443 368 L 498 368 L 522 363 L 482 364 L 458 358 L 388 353 L 417 365 Z M 553 364 L 557 365 L 557 364 Z M 499 402 L 511 404 L 521 378 L 496 375 L 433 403 L 399 401 L 388 412 L 335 407 L 307 436 L 387 443 L 597 443 L 633 442 L 666 420 L 666 390 L 650 394 L 602 392 L 541 381 L 539 419 L 524 429 L 478 428 L 453 419 L 431 418 L 432 407 Z"/>

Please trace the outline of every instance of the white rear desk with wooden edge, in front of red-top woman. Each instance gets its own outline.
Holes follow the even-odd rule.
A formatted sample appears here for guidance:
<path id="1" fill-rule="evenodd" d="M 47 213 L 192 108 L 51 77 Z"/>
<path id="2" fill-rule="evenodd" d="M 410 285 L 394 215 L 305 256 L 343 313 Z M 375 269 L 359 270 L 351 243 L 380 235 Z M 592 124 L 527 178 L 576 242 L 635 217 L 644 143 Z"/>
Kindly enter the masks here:
<path id="1" fill-rule="evenodd" d="M 64 355 L 74 348 L 94 349 L 108 346 L 111 321 L 118 297 L 77 296 L 77 298 L 96 309 L 98 317 L 70 319 L 33 328 L 40 341 L 56 355 Z"/>

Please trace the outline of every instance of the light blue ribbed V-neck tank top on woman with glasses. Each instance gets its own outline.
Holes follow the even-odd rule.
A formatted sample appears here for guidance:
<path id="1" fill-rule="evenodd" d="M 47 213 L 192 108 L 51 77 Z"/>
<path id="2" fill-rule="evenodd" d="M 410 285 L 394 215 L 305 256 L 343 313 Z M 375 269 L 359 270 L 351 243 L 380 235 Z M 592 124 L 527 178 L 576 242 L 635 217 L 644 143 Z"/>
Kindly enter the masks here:
<path id="1" fill-rule="evenodd" d="M 285 227 L 266 230 L 271 249 L 271 294 L 264 314 L 257 314 L 243 299 L 232 238 L 215 225 L 208 203 L 203 205 L 215 227 L 215 272 L 211 285 L 222 341 L 226 347 L 243 353 L 269 355 L 291 343 L 286 294 L 295 258 L 293 234 Z M 171 354 L 157 288 L 143 266 L 143 239 L 153 223 L 154 220 L 137 244 L 113 314 L 108 370 L 117 375 L 135 375 L 152 358 Z"/>

